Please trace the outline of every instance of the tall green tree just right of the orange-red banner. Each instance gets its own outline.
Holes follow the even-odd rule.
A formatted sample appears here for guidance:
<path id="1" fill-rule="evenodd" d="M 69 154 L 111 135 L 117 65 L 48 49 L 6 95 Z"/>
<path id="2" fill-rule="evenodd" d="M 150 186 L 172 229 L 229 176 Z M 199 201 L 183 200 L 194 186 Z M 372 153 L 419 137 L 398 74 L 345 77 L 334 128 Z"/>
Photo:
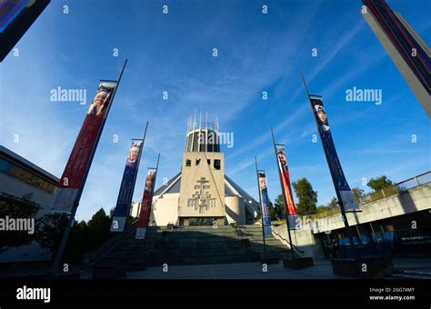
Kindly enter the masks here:
<path id="1" fill-rule="evenodd" d="M 313 186 L 305 177 L 293 182 L 292 185 L 298 198 L 296 204 L 298 214 L 316 214 L 317 192 L 313 190 Z"/>

